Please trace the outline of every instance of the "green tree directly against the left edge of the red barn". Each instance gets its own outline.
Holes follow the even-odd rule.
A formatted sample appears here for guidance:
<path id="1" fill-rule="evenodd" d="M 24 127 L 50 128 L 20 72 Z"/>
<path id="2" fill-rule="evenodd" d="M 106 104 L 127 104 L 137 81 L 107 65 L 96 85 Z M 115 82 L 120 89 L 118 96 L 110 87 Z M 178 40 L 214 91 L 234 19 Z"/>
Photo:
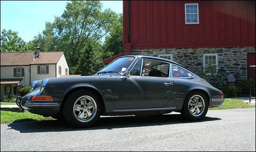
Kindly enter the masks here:
<path id="1" fill-rule="evenodd" d="M 103 44 L 103 59 L 123 53 L 123 15 L 113 17 L 113 25 Z"/>

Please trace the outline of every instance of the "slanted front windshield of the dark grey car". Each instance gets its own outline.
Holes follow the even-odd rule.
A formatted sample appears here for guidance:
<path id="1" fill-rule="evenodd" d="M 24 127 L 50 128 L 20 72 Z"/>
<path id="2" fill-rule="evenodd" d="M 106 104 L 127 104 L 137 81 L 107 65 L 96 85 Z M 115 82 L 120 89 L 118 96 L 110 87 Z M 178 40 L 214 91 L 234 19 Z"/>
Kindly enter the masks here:
<path id="1" fill-rule="evenodd" d="M 115 60 L 113 63 L 110 63 L 106 67 L 104 67 L 99 72 L 107 72 L 107 71 L 121 71 L 122 73 L 125 73 L 125 71 L 128 69 L 130 64 L 134 61 L 134 57 L 123 57 L 120 59 Z"/>

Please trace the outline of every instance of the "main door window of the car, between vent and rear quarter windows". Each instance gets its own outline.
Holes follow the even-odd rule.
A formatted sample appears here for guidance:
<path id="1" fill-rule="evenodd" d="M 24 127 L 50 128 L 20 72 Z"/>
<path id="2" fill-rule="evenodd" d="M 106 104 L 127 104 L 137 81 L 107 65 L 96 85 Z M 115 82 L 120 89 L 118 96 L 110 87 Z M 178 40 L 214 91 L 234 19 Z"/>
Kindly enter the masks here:
<path id="1" fill-rule="evenodd" d="M 143 60 L 143 68 L 141 76 L 156 76 L 168 77 L 169 76 L 169 63 L 164 63 L 154 60 Z"/>

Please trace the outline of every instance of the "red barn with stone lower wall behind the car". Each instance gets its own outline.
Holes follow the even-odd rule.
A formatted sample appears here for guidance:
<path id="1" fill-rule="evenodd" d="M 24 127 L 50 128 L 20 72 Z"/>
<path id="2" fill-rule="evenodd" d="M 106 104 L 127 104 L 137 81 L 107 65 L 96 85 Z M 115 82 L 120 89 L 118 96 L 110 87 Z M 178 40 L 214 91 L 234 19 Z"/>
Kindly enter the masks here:
<path id="1" fill-rule="evenodd" d="M 168 58 L 197 74 L 210 64 L 223 77 L 246 79 L 255 65 L 255 7 L 246 0 L 124 0 L 126 53 L 119 56 Z"/>

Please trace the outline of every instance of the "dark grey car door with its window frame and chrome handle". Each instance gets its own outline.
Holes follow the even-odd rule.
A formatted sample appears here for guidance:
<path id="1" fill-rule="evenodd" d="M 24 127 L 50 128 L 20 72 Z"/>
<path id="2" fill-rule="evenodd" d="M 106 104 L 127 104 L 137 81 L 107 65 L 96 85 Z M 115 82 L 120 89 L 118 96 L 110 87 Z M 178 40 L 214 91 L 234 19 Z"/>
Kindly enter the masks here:
<path id="1" fill-rule="evenodd" d="M 138 60 L 130 72 L 131 76 L 115 79 L 115 109 L 165 107 L 173 88 L 169 67 L 169 63 Z"/>

